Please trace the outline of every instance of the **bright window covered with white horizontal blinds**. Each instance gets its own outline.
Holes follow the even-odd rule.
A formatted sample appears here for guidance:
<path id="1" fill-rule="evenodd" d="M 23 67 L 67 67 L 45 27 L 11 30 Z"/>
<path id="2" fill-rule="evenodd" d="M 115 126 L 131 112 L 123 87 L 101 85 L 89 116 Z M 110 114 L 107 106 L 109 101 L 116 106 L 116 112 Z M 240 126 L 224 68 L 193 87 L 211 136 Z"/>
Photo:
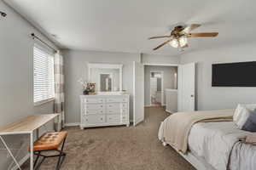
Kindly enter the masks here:
<path id="1" fill-rule="evenodd" d="M 55 97 L 54 53 L 35 44 L 33 58 L 34 104 L 38 105 Z"/>

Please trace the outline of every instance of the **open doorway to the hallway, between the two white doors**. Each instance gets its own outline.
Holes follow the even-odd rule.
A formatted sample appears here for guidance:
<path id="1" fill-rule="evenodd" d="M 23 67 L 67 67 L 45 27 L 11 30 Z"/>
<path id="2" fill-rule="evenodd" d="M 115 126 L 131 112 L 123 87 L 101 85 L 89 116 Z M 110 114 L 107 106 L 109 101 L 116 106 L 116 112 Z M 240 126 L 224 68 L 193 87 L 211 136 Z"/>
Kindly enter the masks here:
<path id="1" fill-rule="evenodd" d="M 144 106 L 167 107 L 167 101 L 172 105 L 177 104 L 177 65 L 144 65 L 144 73 Z M 176 93 L 171 100 L 167 96 L 170 94 L 168 89 Z M 167 111 L 170 112 L 169 109 Z"/>

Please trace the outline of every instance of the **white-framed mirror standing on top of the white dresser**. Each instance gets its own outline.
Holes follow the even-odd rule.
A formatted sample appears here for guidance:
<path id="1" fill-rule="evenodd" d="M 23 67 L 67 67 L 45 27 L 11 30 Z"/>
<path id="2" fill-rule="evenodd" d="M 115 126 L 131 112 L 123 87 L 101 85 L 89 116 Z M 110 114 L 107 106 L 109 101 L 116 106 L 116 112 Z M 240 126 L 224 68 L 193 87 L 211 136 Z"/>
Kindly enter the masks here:
<path id="1" fill-rule="evenodd" d="M 123 65 L 88 64 L 90 82 L 96 83 L 96 92 L 111 93 L 122 91 Z"/>

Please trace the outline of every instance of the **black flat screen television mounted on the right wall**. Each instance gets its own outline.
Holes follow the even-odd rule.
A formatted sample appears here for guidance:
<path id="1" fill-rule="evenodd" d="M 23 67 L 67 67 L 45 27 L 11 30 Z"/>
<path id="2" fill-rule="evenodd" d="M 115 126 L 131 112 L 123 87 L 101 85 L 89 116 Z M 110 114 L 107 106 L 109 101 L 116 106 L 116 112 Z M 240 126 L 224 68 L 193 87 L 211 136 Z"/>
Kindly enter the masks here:
<path id="1" fill-rule="evenodd" d="M 256 87 L 256 61 L 212 65 L 212 87 Z"/>

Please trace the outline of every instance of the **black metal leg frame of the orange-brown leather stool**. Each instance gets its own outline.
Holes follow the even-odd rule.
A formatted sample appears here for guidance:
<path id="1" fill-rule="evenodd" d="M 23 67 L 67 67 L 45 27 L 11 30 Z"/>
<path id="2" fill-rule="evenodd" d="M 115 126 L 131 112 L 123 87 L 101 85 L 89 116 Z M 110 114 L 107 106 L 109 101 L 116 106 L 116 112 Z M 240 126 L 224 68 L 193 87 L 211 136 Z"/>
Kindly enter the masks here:
<path id="1" fill-rule="evenodd" d="M 66 137 L 67 138 L 67 137 Z M 61 146 L 61 150 L 58 150 L 58 149 L 55 149 L 55 150 L 40 150 L 40 151 L 34 151 L 34 155 L 37 156 L 36 160 L 34 161 L 34 168 L 35 170 L 37 170 L 41 164 L 43 163 L 44 159 L 45 158 L 48 158 L 48 157 L 59 157 L 58 159 L 58 163 L 57 163 L 57 166 L 56 166 L 56 170 L 59 170 L 61 168 L 61 164 L 62 162 L 64 161 L 65 157 L 66 157 L 66 153 L 63 152 L 63 148 L 64 148 L 64 144 L 65 144 L 65 141 L 66 141 L 66 138 L 63 140 L 62 142 L 62 146 Z M 57 155 L 51 155 L 51 156 L 45 156 L 45 155 L 42 155 L 41 152 L 44 152 L 44 151 L 58 151 L 60 154 L 57 154 Z M 42 156 L 43 159 L 42 161 L 39 161 L 38 162 L 38 159 L 39 157 Z M 37 165 L 38 164 L 38 165 Z"/>

